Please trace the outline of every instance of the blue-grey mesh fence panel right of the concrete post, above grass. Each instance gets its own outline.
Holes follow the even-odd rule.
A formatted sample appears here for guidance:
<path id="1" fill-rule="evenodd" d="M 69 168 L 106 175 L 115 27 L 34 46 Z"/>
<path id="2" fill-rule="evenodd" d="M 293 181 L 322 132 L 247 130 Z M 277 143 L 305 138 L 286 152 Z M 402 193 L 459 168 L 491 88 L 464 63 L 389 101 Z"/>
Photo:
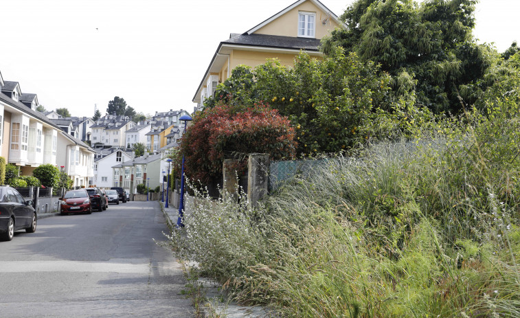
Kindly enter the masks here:
<path id="1" fill-rule="evenodd" d="M 273 192 L 293 177 L 308 177 L 316 168 L 324 166 L 331 158 L 315 160 L 271 161 L 269 164 L 269 192 Z"/>

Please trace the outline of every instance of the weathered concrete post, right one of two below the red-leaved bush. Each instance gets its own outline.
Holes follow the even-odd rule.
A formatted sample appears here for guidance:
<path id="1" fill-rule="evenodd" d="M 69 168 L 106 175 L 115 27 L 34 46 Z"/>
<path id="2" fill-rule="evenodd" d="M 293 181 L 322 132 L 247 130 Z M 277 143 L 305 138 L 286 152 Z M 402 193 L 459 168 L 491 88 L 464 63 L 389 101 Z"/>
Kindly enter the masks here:
<path id="1" fill-rule="evenodd" d="M 269 154 L 250 154 L 247 168 L 247 197 L 254 207 L 269 193 Z"/>

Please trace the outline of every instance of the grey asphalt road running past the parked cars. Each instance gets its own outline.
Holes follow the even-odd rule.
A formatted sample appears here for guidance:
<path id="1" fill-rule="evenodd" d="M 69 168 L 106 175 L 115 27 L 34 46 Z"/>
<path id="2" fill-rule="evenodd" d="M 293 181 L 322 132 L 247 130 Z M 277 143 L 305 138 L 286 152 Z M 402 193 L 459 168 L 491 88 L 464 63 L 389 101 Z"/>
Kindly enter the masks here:
<path id="1" fill-rule="evenodd" d="M 0 317 L 194 317 L 156 201 L 38 220 L 0 242 Z"/>

